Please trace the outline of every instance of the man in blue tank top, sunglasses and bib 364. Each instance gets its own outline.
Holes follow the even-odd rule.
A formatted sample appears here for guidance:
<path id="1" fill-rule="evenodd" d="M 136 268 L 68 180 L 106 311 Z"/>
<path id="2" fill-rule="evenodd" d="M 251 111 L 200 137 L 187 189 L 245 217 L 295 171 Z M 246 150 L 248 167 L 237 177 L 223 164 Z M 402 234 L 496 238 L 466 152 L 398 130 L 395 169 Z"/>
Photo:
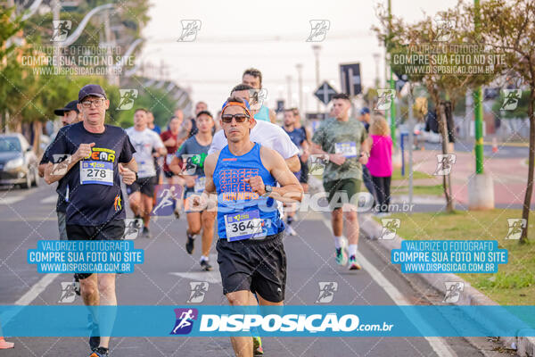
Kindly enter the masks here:
<path id="1" fill-rule="evenodd" d="M 228 302 L 248 305 L 256 293 L 260 305 L 282 305 L 284 222 L 275 200 L 300 201 L 303 190 L 280 154 L 251 142 L 254 118 L 246 102 L 228 98 L 221 121 L 228 145 L 206 158 L 205 191 L 193 205 L 203 205 L 210 193 L 218 195 L 218 263 Z M 251 337 L 230 339 L 236 355 L 252 356 Z"/>

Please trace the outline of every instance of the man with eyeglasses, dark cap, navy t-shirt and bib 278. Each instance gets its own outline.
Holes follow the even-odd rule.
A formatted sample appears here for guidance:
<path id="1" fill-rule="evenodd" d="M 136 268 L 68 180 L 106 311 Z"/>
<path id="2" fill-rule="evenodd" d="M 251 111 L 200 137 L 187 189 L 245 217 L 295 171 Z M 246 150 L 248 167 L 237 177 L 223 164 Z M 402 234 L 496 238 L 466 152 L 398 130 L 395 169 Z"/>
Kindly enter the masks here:
<path id="1" fill-rule="evenodd" d="M 82 87 L 77 107 L 83 120 L 60 129 L 49 148 L 50 157 L 70 155 L 67 172 L 54 172 L 53 162 L 49 162 L 45 181 L 51 184 L 65 178 L 68 182 L 69 240 L 119 240 L 124 235 L 126 218 L 120 178 L 127 185 L 136 180 L 136 150 L 124 129 L 104 124 L 110 101 L 102 87 Z M 87 272 L 77 276 L 86 305 L 117 305 L 115 273 Z M 99 335 L 97 317 L 93 319 L 90 357 L 106 357 L 110 337 Z"/>

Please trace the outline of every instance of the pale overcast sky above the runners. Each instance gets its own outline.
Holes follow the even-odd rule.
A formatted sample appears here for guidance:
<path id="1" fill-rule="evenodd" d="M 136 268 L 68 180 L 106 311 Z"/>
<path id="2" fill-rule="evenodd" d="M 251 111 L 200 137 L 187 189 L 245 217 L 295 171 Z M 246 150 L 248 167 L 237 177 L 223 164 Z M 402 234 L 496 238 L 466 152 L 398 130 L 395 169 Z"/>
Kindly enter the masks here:
<path id="1" fill-rule="evenodd" d="M 152 0 L 151 21 L 144 28 L 142 62 L 165 63 L 167 79 L 190 87 L 193 101 L 203 100 L 217 112 L 240 83 L 243 70 L 262 71 L 268 90 L 268 106 L 287 100 L 287 76 L 292 76 L 292 105 L 299 101 L 297 70 L 303 65 L 303 102 L 316 110 L 315 57 L 312 45 L 322 47 L 320 79 L 340 90 L 340 63 L 360 62 L 364 86 L 374 84 L 374 54 L 381 54 L 380 79 L 384 78 L 384 48 L 371 30 L 378 24 L 379 2 L 342 1 L 180 1 Z M 457 4 L 457 0 L 392 0 L 392 12 L 407 21 L 424 13 L 434 15 Z M 182 20 L 200 20 L 201 29 L 193 42 L 177 42 Z M 325 40 L 306 42 L 310 20 L 328 20 Z"/>

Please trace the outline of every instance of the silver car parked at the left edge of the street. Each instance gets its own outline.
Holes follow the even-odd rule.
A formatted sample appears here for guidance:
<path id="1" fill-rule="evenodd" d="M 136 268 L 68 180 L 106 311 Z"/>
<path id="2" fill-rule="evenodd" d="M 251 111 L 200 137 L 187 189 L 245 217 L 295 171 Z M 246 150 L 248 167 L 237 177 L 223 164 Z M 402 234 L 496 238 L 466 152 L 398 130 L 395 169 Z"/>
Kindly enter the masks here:
<path id="1" fill-rule="evenodd" d="M 0 185 L 37 186 L 37 156 L 21 134 L 0 135 Z"/>

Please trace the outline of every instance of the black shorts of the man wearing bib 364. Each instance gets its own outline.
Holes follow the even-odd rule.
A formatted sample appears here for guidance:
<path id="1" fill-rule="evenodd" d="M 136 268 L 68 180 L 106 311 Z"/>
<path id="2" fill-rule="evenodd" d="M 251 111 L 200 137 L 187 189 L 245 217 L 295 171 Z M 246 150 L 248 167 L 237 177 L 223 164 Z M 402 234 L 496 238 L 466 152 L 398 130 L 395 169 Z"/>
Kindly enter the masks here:
<path id="1" fill-rule="evenodd" d="M 223 294 L 251 290 L 272 303 L 284 300 L 286 253 L 283 232 L 262 240 L 219 239 L 219 272 Z"/>

